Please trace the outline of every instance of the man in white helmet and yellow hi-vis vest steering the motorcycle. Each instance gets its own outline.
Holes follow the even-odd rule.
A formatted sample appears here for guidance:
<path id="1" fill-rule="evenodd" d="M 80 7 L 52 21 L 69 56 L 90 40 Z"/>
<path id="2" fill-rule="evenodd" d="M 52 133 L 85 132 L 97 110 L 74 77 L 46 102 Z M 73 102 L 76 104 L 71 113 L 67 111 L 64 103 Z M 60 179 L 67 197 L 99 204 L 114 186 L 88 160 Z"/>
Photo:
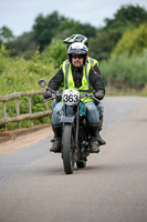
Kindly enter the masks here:
<path id="1" fill-rule="evenodd" d="M 90 63 L 86 62 L 88 49 L 82 42 L 75 42 L 67 50 L 69 61 L 63 63 L 57 73 L 49 81 L 49 88 L 56 91 L 62 89 L 94 89 L 94 95 L 102 100 L 105 95 L 105 88 L 99 72 L 96 72 Z M 52 97 L 51 90 L 46 90 L 44 99 Z M 91 100 L 91 99 L 88 99 Z M 99 152 L 97 143 L 97 130 L 99 122 L 99 112 L 93 101 L 85 103 L 87 110 L 87 121 L 90 131 L 90 143 L 92 152 Z M 50 151 L 59 152 L 61 149 L 61 124 L 59 121 L 59 112 L 62 110 L 63 102 L 57 102 L 52 113 L 52 129 L 54 132 L 55 142 Z"/>

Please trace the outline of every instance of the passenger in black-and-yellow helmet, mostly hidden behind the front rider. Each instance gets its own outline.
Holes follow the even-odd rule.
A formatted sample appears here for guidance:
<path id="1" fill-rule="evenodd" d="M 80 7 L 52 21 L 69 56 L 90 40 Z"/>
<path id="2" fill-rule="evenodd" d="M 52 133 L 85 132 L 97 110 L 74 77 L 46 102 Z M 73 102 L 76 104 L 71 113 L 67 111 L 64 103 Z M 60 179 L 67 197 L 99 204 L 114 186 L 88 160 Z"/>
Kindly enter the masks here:
<path id="1" fill-rule="evenodd" d="M 88 48 L 88 39 L 83 34 L 72 34 L 72 36 L 67 37 L 66 39 L 64 39 L 64 41 L 63 41 L 63 43 L 67 44 L 67 48 L 74 42 L 82 42 Z M 64 62 L 67 62 L 67 61 L 69 60 L 65 60 Z M 99 72 L 98 61 L 96 59 L 87 57 L 86 61 L 92 64 L 92 67 L 94 68 L 94 70 L 96 72 Z M 104 115 L 103 104 L 102 103 L 97 104 L 97 109 L 99 110 L 99 127 L 98 127 L 98 132 L 97 132 L 97 140 L 98 140 L 99 145 L 104 145 L 104 144 L 106 144 L 106 142 L 104 139 L 102 139 L 102 137 L 99 134 L 99 131 L 102 130 L 102 125 L 103 125 L 103 115 Z"/>

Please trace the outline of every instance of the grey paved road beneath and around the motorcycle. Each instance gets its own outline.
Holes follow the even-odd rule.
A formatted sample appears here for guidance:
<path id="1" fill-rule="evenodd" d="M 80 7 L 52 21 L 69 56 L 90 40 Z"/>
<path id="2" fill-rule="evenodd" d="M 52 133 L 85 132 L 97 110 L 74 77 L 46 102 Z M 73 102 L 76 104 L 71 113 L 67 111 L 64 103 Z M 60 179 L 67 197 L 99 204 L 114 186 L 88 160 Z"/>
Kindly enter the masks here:
<path id="1" fill-rule="evenodd" d="M 74 174 L 50 138 L 0 155 L 0 222 L 147 221 L 147 98 L 104 105 L 107 144 Z"/>

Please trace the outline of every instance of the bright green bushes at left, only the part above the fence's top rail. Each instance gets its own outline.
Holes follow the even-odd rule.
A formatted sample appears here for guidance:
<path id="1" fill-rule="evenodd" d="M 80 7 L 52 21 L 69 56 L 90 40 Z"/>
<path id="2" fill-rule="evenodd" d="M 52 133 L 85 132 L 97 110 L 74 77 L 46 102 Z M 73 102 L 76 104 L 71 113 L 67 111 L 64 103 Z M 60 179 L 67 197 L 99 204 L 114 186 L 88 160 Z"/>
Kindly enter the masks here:
<path id="1" fill-rule="evenodd" d="M 1 72 L 0 94 L 36 90 L 39 89 L 38 80 L 40 78 L 49 80 L 49 78 L 55 74 L 54 63 L 43 60 L 39 50 L 30 60 L 24 58 L 4 58 L 2 54 L 7 52 L 3 50 L 2 47 L 0 57 L 3 58 L 3 70 Z"/>

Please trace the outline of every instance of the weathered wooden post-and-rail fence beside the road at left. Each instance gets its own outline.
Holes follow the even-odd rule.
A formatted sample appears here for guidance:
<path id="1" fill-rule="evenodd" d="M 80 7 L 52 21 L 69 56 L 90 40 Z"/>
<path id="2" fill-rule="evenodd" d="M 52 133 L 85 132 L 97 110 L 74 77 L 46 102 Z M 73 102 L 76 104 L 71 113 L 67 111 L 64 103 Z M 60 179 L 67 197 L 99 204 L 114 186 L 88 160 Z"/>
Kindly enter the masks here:
<path id="1" fill-rule="evenodd" d="M 7 124 L 9 122 L 20 122 L 21 120 L 42 118 L 52 113 L 51 110 L 32 113 L 31 97 L 39 94 L 44 94 L 44 91 L 40 90 L 40 91 L 14 92 L 12 94 L 0 95 L 0 102 L 2 103 L 2 110 L 3 110 L 3 118 L 0 119 L 0 125 Z M 20 114 L 19 99 L 21 99 L 22 97 L 28 97 L 28 113 L 25 114 Z M 15 100 L 15 117 L 12 118 L 7 117 L 7 102 L 10 100 Z"/>

